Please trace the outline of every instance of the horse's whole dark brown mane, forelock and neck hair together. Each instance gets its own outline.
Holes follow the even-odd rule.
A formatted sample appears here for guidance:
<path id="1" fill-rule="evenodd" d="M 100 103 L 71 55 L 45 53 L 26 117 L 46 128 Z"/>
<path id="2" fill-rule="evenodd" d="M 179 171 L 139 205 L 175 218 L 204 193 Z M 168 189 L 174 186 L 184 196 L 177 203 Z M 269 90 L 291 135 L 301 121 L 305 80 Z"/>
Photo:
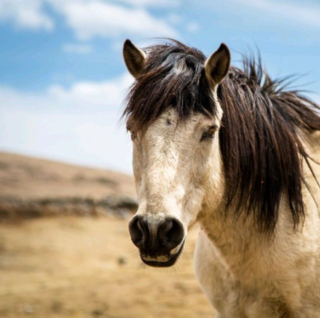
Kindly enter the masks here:
<path id="1" fill-rule="evenodd" d="M 171 105 L 179 120 L 192 112 L 216 114 L 199 50 L 175 40 L 146 50 L 147 63 L 123 116 L 143 130 Z M 259 58 L 244 57 L 243 65 L 230 67 L 218 87 L 226 203 L 235 201 L 237 211 L 253 213 L 261 230 L 272 232 L 286 195 L 296 227 L 304 219 L 302 159 L 308 165 L 311 159 L 301 138 L 304 131 L 320 130 L 320 108 L 298 91 L 285 90 L 283 80 L 271 80 Z"/>

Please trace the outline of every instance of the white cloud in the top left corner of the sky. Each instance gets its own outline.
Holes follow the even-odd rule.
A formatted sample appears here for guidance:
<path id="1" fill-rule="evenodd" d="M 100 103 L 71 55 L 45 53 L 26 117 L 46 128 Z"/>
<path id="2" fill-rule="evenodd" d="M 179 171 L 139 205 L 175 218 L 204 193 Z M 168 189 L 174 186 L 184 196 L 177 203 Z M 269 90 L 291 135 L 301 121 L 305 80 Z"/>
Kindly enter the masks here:
<path id="1" fill-rule="evenodd" d="M 43 12 L 42 0 L 0 0 L 0 20 L 17 27 L 52 30 L 52 19 Z"/>

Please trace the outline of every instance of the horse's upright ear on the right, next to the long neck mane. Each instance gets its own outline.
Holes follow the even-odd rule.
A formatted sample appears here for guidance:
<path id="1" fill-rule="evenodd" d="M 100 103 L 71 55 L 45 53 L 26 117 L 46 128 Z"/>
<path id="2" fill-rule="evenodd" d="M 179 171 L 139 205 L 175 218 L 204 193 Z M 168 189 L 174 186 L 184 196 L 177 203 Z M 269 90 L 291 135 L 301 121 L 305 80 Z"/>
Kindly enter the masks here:
<path id="1" fill-rule="evenodd" d="M 224 43 L 221 43 L 219 48 L 206 59 L 204 63 L 205 76 L 212 87 L 216 87 L 226 76 L 230 60 L 230 51 Z"/>

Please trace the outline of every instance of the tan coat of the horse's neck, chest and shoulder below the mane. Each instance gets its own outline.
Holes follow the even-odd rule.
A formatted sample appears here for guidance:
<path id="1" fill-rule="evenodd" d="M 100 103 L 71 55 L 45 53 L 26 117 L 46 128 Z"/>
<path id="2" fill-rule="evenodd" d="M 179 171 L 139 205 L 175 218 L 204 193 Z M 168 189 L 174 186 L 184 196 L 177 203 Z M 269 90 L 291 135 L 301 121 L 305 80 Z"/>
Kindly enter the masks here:
<path id="1" fill-rule="evenodd" d="M 320 132 L 310 137 L 305 147 L 319 161 Z M 312 167 L 320 180 L 320 166 Z M 303 170 L 314 198 L 304 186 L 306 217 L 296 232 L 285 199 L 272 240 L 254 230 L 251 220 L 234 222 L 222 211 L 208 208 L 200 220 L 195 272 L 217 317 L 320 317 L 320 189 L 305 163 Z"/>

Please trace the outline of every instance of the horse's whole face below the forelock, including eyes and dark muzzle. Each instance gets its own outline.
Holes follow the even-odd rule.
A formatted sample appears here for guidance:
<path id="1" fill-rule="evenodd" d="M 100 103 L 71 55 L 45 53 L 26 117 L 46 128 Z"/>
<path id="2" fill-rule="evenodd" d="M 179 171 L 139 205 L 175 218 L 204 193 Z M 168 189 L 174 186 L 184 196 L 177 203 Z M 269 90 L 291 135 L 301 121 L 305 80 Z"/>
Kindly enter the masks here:
<path id="1" fill-rule="evenodd" d="M 204 198 L 211 206 L 221 201 L 220 118 L 221 109 L 215 118 L 193 114 L 177 122 L 171 108 L 143 134 L 131 129 L 139 208 L 129 231 L 145 264 L 173 265 Z"/>

